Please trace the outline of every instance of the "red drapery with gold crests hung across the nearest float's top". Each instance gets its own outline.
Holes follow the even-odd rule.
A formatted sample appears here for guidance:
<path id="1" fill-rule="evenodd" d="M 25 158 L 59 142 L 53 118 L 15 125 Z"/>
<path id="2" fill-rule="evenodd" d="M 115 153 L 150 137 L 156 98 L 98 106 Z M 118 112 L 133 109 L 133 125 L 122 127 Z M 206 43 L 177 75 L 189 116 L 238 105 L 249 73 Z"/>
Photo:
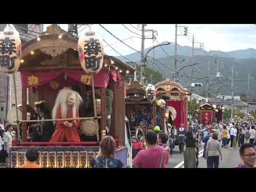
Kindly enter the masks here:
<path id="1" fill-rule="evenodd" d="M 66 79 L 64 78 L 66 74 Z M 115 82 L 119 80 L 116 70 L 101 70 L 93 76 L 95 87 L 107 87 L 109 77 Z M 91 76 L 87 75 L 84 70 L 63 69 L 60 71 L 52 70 L 50 72 L 31 73 L 28 71 L 21 72 L 21 83 L 25 87 L 49 86 L 50 89 L 59 90 L 65 85 L 73 85 L 79 83 L 91 85 Z"/>

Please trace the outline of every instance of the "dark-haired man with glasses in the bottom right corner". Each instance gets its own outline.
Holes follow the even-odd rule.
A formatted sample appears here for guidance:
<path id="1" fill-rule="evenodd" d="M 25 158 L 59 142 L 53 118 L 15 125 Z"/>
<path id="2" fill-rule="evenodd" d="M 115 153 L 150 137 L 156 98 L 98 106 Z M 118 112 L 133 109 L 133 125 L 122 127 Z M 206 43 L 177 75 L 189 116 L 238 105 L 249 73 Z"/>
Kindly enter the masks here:
<path id="1" fill-rule="evenodd" d="M 245 143 L 239 149 L 239 154 L 244 164 L 240 164 L 237 168 L 256 168 L 254 165 L 256 154 L 255 148 L 251 143 Z"/>

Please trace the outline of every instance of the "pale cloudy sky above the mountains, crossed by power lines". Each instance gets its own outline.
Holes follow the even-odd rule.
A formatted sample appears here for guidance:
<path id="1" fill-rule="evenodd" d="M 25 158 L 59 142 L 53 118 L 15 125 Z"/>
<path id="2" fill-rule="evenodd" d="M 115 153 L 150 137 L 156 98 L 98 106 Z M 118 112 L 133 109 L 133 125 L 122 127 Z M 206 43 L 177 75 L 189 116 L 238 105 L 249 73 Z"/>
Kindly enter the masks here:
<path id="1" fill-rule="evenodd" d="M 44 30 L 50 24 L 44 24 Z M 132 27 L 132 26 L 133 27 Z M 141 50 L 141 25 L 138 24 L 124 24 L 125 27 L 133 31 L 127 30 L 122 24 L 102 24 L 107 30 L 109 30 L 116 37 L 124 41 L 126 44 L 133 47 L 135 50 Z M 210 51 L 235 51 L 254 48 L 256 49 L 256 25 L 253 24 L 178 24 L 178 26 L 187 26 L 188 35 L 181 35 L 184 31 L 182 27 L 178 27 L 177 43 L 182 46 L 192 46 L 192 36 L 194 34 L 195 42 L 204 43 L 204 50 Z M 68 29 L 67 24 L 60 24 L 60 27 L 64 30 Z M 85 26 L 78 28 L 78 36 L 83 34 L 88 27 Z M 137 29 L 135 29 L 135 28 Z M 115 37 L 110 35 L 105 29 L 98 24 L 92 25 L 92 29 L 105 39 L 117 52 L 122 55 L 133 53 L 130 47 L 119 42 Z M 145 29 L 154 29 L 157 31 L 157 41 L 159 43 L 167 41 L 175 41 L 175 24 L 147 24 Z M 151 32 L 146 32 L 145 35 L 151 35 Z M 150 36 L 148 36 L 150 37 Z M 126 39 L 126 40 L 124 40 Z M 157 45 L 157 42 L 152 39 L 145 39 L 145 49 Z M 107 44 L 104 43 L 105 53 L 108 55 L 119 56 L 114 50 L 112 50 Z M 199 47 L 199 43 L 195 44 L 195 47 Z M 166 48 L 165 48 L 166 49 Z M 178 50 L 179 51 L 179 50 Z"/>

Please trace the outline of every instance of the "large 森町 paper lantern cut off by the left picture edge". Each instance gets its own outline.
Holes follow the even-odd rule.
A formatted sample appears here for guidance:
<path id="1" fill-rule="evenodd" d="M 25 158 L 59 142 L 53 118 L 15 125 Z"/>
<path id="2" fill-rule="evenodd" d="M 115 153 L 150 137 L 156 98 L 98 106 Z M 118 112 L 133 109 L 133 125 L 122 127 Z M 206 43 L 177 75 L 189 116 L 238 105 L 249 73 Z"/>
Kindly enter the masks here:
<path id="1" fill-rule="evenodd" d="M 0 34 L 0 70 L 12 74 L 20 67 L 21 41 L 18 31 L 7 24 Z"/>

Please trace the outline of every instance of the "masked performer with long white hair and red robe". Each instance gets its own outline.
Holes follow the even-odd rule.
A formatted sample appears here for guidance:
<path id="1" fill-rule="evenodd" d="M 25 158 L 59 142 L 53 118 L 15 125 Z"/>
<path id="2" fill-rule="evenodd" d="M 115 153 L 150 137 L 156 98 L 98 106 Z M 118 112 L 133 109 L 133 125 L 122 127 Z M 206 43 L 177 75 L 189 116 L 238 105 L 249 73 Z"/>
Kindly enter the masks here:
<path id="1" fill-rule="evenodd" d="M 52 117 L 54 119 L 79 117 L 78 108 L 81 101 L 82 98 L 77 92 L 67 88 L 60 90 L 52 110 Z M 55 132 L 50 142 L 80 142 L 77 133 L 79 120 L 57 121 L 55 123 Z"/>

